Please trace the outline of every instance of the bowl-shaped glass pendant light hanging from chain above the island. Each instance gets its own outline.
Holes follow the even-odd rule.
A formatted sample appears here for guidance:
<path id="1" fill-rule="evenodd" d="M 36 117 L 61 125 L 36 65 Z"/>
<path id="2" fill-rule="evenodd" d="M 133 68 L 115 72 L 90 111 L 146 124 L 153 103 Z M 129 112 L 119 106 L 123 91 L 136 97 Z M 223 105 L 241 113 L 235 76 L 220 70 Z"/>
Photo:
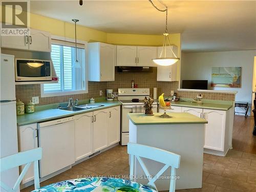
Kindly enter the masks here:
<path id="1" fill-rule="evenodd" d="M 173 65 L 174 63 L 176 63 L 178 60 L 180 60 L 179 57 L 177 57 L 173 51 L 172 46 L 170 46 L 170 40 L 169 40 L 169 33 L 168 33 L 168 29 L 167 29 L 167 15 L 168 15 L 168 7 L 166 5 L 164 5 L 161 1 L 159 1 L 162 5 L 165 6 L 165 9 L 159 9 L 157 8 L 152 0 L 148 0 L 153 7 L 155 7 L 158 11 L 161 12 L 166 12 L 166 21 L 165 21 L 165 32 L 163 33 L 164 35 L 164 40 L 163 40 L 163 47 L 162 47 L 162 51 L 160 53 L 160 56 L 157 58 L 153 58 L 152 60 L 159 66 L 170 66 Z M 173 53 L 174 57 L 166 57 L 166 53 L 171 52 Z"/>

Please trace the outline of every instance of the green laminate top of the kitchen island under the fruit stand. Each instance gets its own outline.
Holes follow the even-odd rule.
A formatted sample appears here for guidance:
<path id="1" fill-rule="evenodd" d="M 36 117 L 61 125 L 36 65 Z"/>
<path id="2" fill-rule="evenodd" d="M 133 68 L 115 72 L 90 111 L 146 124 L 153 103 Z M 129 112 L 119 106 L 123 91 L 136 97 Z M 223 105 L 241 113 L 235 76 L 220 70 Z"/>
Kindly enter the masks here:
<path id="1" fill-rule="evenodd" d="M 163 113 L 154 113 L 153 116 L 146 116 L 142 113 L 129 113 L 127 116 L 136 125 L 148 124 L 204 124 L 205 119 L 189 113 L 166 113 L 170 118 L 161 118 Z"/>

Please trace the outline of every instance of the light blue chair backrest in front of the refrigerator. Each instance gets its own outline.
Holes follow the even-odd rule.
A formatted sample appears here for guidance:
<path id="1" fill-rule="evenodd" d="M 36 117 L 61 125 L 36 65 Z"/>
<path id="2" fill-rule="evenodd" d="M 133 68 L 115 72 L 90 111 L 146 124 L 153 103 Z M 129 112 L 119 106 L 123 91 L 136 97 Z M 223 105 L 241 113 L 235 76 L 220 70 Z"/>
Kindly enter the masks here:
<path id="1" fill-rule="evenodd" d="M 27 173 L 27 171 L 29 169 L 29 166 L 31 165 L 32 162 L 34 162 L 34 185 L 35 185 L 35 189 L 40 188 L 38 160 L 40 160 L 41 158 L 42 158 L 42 148 L 41 147 L 1 158 L 0 172 L 4 172 L 5 170 L 8 170 L 10 168 L 14 168 L 14 167 L 17 167 L 20 165 L 24 165 L 24 164 L 26 164 L 26 165 L 23 168 L 22 173 L 20 173 L 17 181 L 15 182 L 15 184 L 12 188 L 7 186 L 2 181 L 0 182 L 0 186 L 3 187 L 7 191 L 17 191 L 20 182 L 22 182 L 23 177 L 25 176 L 25 174 Z"/>

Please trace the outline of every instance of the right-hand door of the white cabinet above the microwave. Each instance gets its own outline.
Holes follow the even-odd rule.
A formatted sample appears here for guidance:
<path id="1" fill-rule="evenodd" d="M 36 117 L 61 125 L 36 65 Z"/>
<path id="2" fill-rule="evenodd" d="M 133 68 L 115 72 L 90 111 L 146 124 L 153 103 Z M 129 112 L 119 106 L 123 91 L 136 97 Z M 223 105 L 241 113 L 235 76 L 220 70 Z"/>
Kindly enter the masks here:
<path id="1" fill-rule="evenodd" d="M 51 52 L 51 33 L 31 29 L 29 50 Z"/>

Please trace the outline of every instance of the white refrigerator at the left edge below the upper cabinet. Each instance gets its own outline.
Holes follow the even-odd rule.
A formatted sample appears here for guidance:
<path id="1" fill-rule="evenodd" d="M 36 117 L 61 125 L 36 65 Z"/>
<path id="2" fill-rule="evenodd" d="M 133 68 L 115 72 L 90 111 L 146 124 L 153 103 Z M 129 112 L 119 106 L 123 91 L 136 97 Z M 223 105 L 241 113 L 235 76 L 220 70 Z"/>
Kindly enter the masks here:
<path id="1" fill-rule="evenodd" d="M 0 156 L 18 153 L 14 56 L 1 54 L 0 63 Z M 0 167 L 1 168 L 1 167 Z M 1 181 L 13 187 L 18 178 L 18 167 L 1 173 Z M 5 191 L 3 188 L 0 191 Z"/>

